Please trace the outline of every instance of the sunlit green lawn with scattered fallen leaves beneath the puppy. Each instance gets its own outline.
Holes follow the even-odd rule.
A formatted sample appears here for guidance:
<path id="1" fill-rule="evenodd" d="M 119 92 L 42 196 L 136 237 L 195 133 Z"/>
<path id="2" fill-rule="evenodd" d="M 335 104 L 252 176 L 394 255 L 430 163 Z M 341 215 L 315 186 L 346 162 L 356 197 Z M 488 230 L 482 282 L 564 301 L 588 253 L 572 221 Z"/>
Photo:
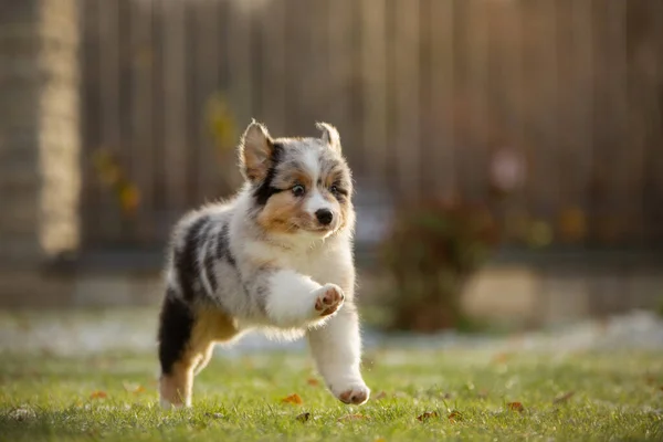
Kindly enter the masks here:
<path id="1" fill-rule="evenodd" d="M 362 407 L 311 385 L 306 355 L 215 359 L 197 378 L 193 408 L 173 412 L 156 404 L 155 373 L 151 355 L 0 354 L 0 440 L 663 440 L 660 354 L 385 349 L 367 355 L 373 397 Z M 131 391 L 138 385 L 145 391 Z M 295 392 L 303 404 L 282 402 Z"/>

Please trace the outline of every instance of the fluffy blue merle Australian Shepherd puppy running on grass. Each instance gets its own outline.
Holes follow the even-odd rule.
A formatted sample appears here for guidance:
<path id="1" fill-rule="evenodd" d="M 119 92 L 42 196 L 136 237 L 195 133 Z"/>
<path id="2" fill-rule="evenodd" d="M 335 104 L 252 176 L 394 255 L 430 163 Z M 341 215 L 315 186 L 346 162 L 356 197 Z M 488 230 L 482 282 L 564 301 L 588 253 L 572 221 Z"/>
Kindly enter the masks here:
<path id="1" fill-rule="evenodd" d="M 230 201 L 193 211 L 175 227 L 159 317 L 161 404 L 191 404 L 193 376 L 215 343 L 262 329 L 306 335 L 327 387 L 364 403 L 354 302 L 350 170 L 338 131 L 272 138 L 255 122 L 239 146 L 245 179 Z"/>

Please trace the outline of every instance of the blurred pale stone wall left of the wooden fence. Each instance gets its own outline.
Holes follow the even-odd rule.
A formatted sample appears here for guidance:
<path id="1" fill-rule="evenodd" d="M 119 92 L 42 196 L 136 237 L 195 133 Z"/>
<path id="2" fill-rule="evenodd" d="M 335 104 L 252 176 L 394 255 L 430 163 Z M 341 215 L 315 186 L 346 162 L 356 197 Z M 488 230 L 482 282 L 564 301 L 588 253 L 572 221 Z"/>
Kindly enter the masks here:
<path id="1" fill-rule="evenodd" d="M 0 0 L 0 263 L 78 242 L 76 0 Z"/>

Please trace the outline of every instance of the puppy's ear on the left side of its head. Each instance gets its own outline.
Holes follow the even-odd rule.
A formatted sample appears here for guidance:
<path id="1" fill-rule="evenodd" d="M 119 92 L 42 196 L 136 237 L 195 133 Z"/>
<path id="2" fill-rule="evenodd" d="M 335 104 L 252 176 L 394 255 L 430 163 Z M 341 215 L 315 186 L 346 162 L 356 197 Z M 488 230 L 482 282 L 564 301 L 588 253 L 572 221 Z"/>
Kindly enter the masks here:
<path id="1" fill-rule="evenodd" d="M 251 182 L 261 181 L 267 175 L 274 141 L 267 128 L 253 119 L 240 141 L 240 169 Z"/>

